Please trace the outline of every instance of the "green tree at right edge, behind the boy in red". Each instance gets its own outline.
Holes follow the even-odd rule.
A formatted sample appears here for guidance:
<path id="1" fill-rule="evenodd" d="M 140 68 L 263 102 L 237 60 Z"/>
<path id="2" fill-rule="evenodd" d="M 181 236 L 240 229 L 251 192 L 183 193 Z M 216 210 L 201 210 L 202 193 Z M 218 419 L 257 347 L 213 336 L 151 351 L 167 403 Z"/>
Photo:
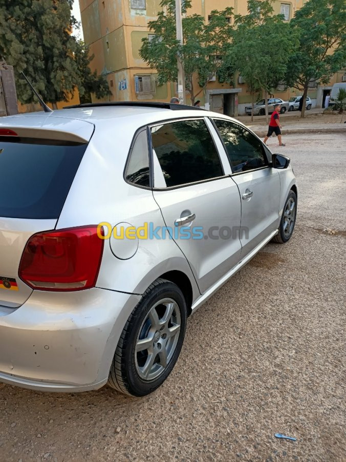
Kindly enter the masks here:
<path id="1" fill-rule="evenodd" d="M 311 82 L 328 83 L 346 65 L 346 4 L 344 0 L 309 0 L 296 11 L 290 27 L 299 34 L 299 48 L 290 56 L 285 80 L 304 92 L 304 117 Z"/>

